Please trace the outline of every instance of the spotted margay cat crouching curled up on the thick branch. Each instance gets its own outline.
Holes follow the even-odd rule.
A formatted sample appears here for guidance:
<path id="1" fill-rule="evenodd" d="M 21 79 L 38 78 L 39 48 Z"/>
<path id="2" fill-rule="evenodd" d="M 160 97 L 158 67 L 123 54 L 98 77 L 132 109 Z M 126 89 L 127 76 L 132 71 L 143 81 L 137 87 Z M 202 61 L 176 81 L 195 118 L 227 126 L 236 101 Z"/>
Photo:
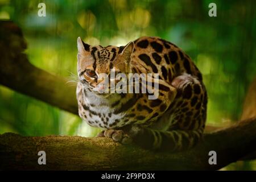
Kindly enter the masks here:
<path id="1" fill-rule="evenodd" d="M 181 151 L 201 139 L 207 92 L 188 55 L 166 40 L 142 37 L 126 46 L 90 46 L 77 39 L 79 115 L 98 136 L 154 149 Z M 104 93 L 100 73 L 159 73 L 159 97 L 147 93 Z"/>

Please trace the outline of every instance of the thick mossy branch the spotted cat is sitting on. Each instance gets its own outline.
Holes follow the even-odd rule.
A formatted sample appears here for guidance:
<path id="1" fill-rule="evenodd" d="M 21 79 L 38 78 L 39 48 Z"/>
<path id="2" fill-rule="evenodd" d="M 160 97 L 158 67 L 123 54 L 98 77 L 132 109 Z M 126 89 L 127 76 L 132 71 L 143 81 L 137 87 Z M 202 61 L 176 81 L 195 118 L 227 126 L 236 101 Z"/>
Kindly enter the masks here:
<path id="1" fill-rule="evenodd" d="M 246 132 L 245 132 L 246 131 Z M 195 148 L 174 154 L 123 146 L 108 138 L 21 137 L 0 135 L 0 169 L 216 170 L 256 150 L 256 118 L 228 129 L 204 135 Z M 38 152 L 46 151 L 46 165 L 38 164 Z M 208 152 L 217 152 L 217 165 L 209 165 Z"/>

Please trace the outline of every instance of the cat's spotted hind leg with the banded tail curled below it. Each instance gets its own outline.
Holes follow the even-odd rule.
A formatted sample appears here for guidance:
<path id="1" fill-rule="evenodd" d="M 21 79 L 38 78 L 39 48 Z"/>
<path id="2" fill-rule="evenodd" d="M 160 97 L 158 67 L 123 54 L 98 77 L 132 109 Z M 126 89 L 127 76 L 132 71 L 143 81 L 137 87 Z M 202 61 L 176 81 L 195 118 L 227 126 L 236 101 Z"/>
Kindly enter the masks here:
<path id="1" fill-rule="evenodd" d="M 203 136 L 207 111 L 207 92 L 197 77 L 184 74 L 174 78 L 174 102 L 161 119 L 170 118 L 165 131 L 142 128 L 133 141 L 148 149 L 182 151 L 195 146 Z"/>

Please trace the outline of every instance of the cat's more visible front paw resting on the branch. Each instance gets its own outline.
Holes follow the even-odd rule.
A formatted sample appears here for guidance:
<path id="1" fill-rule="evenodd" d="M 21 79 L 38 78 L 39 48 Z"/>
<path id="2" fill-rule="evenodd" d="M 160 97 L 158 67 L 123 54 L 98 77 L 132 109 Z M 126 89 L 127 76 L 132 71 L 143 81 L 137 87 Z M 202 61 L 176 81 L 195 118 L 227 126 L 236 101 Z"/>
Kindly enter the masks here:
<path id="1" fill-rule="evenodd" d="M 129 137 L 129 135 L 125 134 L 123 130 L 105 130 L 104 136 L 112 138 L 115 142 L 119 142 L 122 144 L 130 144 L 132 142 L 132 139 Z"/>

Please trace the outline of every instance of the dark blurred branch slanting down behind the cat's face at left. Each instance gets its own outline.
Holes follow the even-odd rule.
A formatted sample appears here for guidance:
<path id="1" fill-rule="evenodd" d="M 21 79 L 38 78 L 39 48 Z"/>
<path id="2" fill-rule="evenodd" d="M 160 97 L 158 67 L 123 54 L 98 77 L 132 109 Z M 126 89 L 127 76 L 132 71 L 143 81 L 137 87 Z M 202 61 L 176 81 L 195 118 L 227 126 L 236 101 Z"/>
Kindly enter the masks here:
<path id="1" fill-rule="evenodd" d="M 13 22 L 0 21 L 0 84 L 48 104 L 78 114 L 76 86 L 32 65 L 23 53 L 26 42 Z"/>

